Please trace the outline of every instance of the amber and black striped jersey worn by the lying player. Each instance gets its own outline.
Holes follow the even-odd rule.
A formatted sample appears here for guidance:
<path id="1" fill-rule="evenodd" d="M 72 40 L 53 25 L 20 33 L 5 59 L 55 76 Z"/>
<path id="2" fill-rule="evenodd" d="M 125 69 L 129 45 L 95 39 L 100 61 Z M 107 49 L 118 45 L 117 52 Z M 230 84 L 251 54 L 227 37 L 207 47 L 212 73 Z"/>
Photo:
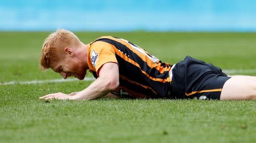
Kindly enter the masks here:
<path id="1" fill-rule="evenodd" d="M 88 65 L 95 78 L 107 62 L 115 62 L 119 67 L 119 87 L 113 94 L 130 98 L 170 97 L 171 65 L 130 41 L 102 36 L 90 43 Z"/>

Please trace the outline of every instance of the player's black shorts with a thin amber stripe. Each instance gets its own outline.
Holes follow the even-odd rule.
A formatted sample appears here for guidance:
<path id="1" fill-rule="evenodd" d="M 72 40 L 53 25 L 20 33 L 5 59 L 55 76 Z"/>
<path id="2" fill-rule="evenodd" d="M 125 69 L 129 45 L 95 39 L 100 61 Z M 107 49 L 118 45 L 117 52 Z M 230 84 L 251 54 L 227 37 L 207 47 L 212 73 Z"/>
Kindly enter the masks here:
<path id="1" fill-rule="evenodd" d="M 172 69 L 172 97 L 175 99 L 220 99 L 228 81 L 221 69 L 187 56 Z"/>

